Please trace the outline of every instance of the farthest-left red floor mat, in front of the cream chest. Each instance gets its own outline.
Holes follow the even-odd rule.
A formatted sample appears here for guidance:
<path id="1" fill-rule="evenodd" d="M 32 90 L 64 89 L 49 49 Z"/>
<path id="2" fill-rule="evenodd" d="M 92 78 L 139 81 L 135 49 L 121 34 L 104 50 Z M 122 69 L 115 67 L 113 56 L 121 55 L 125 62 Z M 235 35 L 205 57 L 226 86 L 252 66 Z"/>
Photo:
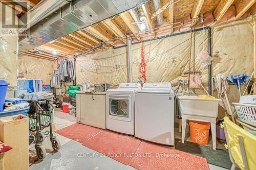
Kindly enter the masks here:
<path id="1" fill-rule="evenodd" d="M 87 125 L 82 124 L 74 124 L 70 125 L 66 128 L 62 128 L 60 130 L 55 131 L 55 133 L 65 136 L 67 138 L 73 139 L 80 143 L 88 140 L 95 134 L 99 133 L 102 129 L 94 128 Z"/>

